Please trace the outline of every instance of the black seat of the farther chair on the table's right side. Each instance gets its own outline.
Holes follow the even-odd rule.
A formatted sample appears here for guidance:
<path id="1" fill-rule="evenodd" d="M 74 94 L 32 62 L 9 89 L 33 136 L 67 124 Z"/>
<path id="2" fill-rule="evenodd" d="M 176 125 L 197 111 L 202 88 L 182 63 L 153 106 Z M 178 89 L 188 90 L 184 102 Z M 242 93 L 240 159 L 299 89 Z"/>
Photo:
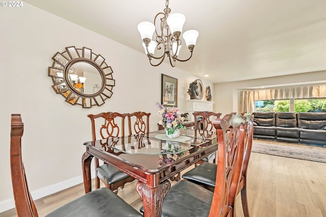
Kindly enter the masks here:
<path id="1" fill-rule="evenodd" d="M 215 188 L 217 167 L 218 166 L 216 164 L 205 162 L 184 173 L 182 178 L 196 184 L 208 185 L 211 188 Z"/>

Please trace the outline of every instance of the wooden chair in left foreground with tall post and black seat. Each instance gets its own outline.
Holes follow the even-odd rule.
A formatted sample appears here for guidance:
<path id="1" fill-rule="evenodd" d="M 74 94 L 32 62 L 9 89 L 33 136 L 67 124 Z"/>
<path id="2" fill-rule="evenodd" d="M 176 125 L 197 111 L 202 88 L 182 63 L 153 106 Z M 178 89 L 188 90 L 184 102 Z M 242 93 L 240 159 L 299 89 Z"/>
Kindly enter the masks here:
<path id="1" fill-rule="evenodd" d="M 16 213 L 18 217 L 38 217 L 35 203 L 29 192 L 21 156 L 21 137 L 24 125 L 20 114 L 11 115 L 10 167 Z M 119 208 L 117 208 L 119 207 Z M 143 216 L 107 188 L 100 188 L 50 212 L 47 217 L 104 217 Z"/>

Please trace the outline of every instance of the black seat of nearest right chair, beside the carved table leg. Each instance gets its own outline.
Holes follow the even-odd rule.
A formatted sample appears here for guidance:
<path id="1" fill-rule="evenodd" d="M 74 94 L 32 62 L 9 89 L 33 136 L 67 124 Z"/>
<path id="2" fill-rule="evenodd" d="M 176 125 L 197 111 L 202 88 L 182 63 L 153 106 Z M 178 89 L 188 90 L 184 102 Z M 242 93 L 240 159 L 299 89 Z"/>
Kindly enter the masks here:
<path id="1" fill-rule="evenodd" d="M 164 198 L 161 216 L 208 216 L 212 199 L 213 193 L 207 189 L 190 181 L 180 180 Z M 144 212 L 144 207 L 141 207 L 141 212 Z"/>

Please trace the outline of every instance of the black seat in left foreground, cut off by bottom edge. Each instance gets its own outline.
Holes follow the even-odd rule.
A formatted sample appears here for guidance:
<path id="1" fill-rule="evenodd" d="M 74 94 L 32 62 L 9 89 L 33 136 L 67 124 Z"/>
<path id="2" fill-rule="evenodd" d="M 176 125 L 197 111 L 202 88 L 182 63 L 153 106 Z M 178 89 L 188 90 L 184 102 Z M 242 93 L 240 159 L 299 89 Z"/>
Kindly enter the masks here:
<path id="1" fill-rule="evenodd" d="M 100 188 L 50 212 L 46 217 L 143 216 L 110 189 Z"/>

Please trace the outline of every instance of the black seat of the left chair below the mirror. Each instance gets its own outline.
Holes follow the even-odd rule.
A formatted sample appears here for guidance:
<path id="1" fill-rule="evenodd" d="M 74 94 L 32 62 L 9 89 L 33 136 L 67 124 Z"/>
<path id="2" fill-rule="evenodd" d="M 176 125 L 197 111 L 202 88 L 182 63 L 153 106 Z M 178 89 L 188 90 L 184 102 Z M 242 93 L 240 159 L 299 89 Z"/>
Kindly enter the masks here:
<path id="1" fill-rule="evenodd" d="M 116 183 L 129 177 L 128 174 L 108 164 L 103 164 L 98 167 L 97 172 L 105 179 L 106 183 L 108 184 Z"/>

